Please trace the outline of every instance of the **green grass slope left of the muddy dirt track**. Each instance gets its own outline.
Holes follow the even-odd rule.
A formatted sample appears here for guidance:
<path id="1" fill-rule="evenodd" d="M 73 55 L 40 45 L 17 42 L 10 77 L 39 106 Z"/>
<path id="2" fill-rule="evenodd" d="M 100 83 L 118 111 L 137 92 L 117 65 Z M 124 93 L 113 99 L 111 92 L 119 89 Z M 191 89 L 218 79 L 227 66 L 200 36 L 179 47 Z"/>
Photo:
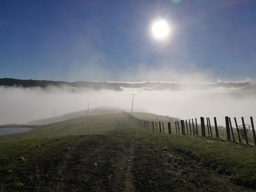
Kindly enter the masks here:
<path id="1" fill-rule="evenodd" d="M 0 178 L 4 179 L 0 189 L 15 185 L 18 181 L 18 176 L 9 174 L 9 170 L 19 172 L 20 168 L 41 159 L 61 156 L 63 154 L 60 153 L 66 151 L 67 147 L 90 139 L 86 135 L 106 134 L 110 130 L 132 127 L 136 126 L 120 113 L 84 116 L 43 125 L 20 134 L 0 136 Z M 26 161 L 17 161 L 19 157 L 25 158 Z"/>

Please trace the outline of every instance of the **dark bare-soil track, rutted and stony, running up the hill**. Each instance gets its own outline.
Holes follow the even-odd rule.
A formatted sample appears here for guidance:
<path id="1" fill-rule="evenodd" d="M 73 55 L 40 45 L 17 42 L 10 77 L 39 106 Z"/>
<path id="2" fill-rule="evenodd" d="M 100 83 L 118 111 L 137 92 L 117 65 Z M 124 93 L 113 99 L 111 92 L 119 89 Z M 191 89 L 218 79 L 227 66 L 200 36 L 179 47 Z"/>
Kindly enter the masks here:
<path id="1" fill-rule="evenodd" d="M 97 165 L 95 164 L 97 163 Z M 85 136 L 56 156 L 24 167 L 8 191 L 249 191 L 196 161 L 156 150 L 125 131 Z"/>

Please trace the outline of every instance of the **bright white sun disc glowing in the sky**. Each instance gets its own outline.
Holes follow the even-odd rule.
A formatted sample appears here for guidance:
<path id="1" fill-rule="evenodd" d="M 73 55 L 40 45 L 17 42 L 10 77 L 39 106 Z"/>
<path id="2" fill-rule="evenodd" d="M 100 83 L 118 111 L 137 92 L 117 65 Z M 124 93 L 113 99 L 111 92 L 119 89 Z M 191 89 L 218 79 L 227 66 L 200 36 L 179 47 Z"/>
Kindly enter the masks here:
<path id="1" fill-rule="evenodd" d="M 170 27 L 169 27 L 168 23 L 166 22 L 166 20 L 162 19 L 162 20 L 157 20 L 157 21 L 153 22 L 152 33 L 155 38 L 157 38 L 157 39 L 166 38 L 168 36 L 169 32 L 170 32 Z"/>

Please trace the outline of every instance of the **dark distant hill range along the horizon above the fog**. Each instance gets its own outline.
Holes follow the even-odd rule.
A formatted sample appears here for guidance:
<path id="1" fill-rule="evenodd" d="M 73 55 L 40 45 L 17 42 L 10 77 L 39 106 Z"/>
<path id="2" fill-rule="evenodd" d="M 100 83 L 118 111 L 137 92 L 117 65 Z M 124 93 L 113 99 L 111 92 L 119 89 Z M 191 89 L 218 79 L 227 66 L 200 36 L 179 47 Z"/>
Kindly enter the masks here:
<path id="1" fill-rule="evenodd" d="M 117 83 L 117 82 L 89 82 L 89 81 L 51 81 L 51 80 L 21 80 L 13 78 L 0 78 L 0 86 L 11 87 L 42 87 L 47 86 L 68 86 L 73 92 L 86 89 L 108 89 L 121 91 L 124 88 L 143 88 L 147 91 L 182 91 L 182 90 L 207 90 L 213 88 L 241 89 L 255 91 L 255 83 L 175 83 L 175 82 L 137 82 L 137 83 Z"/>

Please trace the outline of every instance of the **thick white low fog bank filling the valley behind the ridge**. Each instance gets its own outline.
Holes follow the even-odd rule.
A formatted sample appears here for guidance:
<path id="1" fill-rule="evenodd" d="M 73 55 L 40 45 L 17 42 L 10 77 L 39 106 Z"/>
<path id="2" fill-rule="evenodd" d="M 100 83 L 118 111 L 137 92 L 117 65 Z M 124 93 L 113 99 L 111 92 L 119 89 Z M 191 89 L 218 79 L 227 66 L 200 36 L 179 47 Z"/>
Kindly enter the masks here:
<path id="1" fill-rule="evenodd" d="M 168 83 L 166 83 L 168 84 Z M 134 84 L 132 84 L 134 85 Z M 133 107 L 144 109 L 159 115 L 179 117 L 181 119 L 225 116 L 256 116 L 256 85 L 247 84 L 172 84 L 175 89 L 166 89 L 165 83 L 155 87 L 122 87 L 112 89 L 75 89 L 68 86 L 43 87 L 5 87 L 0 86 L 0 125 L 10 123 L 26 124 L 29 121 L 51 118 L 53 110 L 56 116 L 111 106 L 122 109 Z M 165 85 L 165 86 L 164 86 Z M 164 87 L 164 88 L 162 88 Z M 193 87 L 193 88 L 191 88 Z M 195 89 L 195 87 L 198 87 Z M 90 112 L 90 109 L 89 109 Z M 225 123 L 218 122 L 224 125 Z"/>

